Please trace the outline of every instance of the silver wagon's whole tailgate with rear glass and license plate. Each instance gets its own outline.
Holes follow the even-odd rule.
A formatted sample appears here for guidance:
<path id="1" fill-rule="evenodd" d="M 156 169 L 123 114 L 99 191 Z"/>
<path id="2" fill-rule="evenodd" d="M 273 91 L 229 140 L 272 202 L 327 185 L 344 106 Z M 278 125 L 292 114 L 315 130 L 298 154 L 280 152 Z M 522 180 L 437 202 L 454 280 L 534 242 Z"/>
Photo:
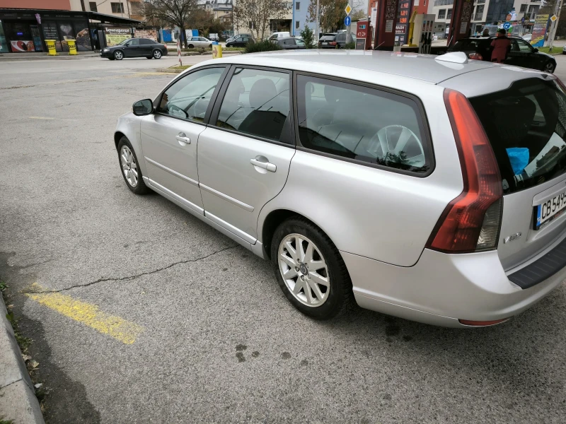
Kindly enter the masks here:
<path id="1" fill-rule="evenodd" d="M 566 235 L 566 93 L 554 79 L 536 76 L 470 102 L 502 177 L 498 254 L 509 270 Z"/>

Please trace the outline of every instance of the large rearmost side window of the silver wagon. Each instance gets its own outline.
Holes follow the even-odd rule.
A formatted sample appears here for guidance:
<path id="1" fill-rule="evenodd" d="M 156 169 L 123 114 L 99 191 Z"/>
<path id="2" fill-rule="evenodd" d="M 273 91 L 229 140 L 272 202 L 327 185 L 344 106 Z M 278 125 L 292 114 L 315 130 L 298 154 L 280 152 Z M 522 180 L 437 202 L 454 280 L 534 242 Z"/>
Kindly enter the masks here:
<path id="1" fill-rule="evenodd" d="M 402 95 L 297 76 L 301 145 L 374 165 L 424 173 L 429 148 L 417 103 Z"/>

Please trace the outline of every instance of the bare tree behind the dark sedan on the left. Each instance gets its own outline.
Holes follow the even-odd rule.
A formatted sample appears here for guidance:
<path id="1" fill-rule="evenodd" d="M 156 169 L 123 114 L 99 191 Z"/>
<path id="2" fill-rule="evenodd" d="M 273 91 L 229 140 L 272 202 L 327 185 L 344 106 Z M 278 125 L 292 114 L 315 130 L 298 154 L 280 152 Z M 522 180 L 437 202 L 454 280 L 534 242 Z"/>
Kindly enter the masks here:
<path id="1" fill-rule="evenodd" d="M 192 23 L 198 7 L 197 0 L 149 0 L 144 5 L 144 14 L 150 21 L 178 26 L 187 47 L 185 28 Z"/>

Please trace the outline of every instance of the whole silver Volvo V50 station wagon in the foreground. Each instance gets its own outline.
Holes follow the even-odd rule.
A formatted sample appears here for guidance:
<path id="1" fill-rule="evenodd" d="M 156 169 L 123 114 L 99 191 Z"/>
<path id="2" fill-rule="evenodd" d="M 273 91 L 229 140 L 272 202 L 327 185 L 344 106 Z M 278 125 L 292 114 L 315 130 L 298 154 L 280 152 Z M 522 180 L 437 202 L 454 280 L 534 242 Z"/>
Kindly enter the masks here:
<path id="1" fill-rule="evenodd" d="M 566 278 L 566 89 L 454 52 L 205 61 L 118 119 L 127 187 L 272 262 L 316 319 L 487 326 Z M 267 283 L 267 282 L 266 282 Z"/>

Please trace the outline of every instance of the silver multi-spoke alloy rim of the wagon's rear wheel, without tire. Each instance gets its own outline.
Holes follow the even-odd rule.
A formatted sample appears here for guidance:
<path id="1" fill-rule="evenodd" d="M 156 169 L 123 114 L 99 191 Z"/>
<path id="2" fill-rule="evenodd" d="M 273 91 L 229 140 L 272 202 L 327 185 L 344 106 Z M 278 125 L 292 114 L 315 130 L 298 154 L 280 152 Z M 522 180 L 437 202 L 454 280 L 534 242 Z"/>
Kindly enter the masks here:
<path id="1" fill-rule="evenodd" d="M 318 307 L 328 300 L 330 278 L 320 249 L 301 234 L 279 244 L 279 271 L 291 295 L 303 305 Z"/>

